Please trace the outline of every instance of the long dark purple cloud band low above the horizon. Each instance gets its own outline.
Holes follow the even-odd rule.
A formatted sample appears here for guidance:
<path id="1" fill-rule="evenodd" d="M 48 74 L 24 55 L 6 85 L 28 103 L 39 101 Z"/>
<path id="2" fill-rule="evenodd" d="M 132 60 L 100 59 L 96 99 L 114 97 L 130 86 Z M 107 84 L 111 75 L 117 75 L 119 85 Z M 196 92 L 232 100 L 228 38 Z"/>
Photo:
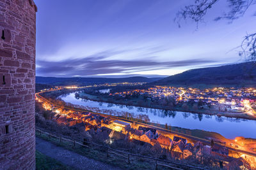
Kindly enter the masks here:
<path id="1" fill-rule="evenodd" d="M 122 53 L 107 50 L 79 59 L 61 61 L 37 60 L 36 73 L 44 76 L 97 76 L 99 74 L 136 74 L 141 71 L 170 69 L 173 67 L 197 66 L 216 62 L 215 60 L 189 59 L 169 62 L 156 60 L 111 60 L 111 55 Z M 153 57 L 152 58 L 157 58 Z M 168 75 L 168 73 L 166 73 Z"/>

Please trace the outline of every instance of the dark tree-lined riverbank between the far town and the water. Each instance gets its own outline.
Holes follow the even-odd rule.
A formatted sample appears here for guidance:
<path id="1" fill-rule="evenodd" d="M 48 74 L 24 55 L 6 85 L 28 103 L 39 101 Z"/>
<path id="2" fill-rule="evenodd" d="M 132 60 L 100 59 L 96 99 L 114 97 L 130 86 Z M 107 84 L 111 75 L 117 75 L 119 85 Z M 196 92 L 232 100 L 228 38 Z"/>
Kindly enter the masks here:
<path id="1" fill-rule="evenodd" d="M 129 103 L 129 101 L 116 101 L 116 100 L 109 100 L 109 97 L 102 97 L 102 96 L 93 96 L 91 94 L 86 94 L 84 92 L 79 93 L 79 98 L 81 99 L 87 99 L 91 101 L 97 101 L 97 102 L 104 102 L 104 103 L 112 103 L 112 104 L 122 104 L 126 106 L 136 106 L 136 107 L 143 107 L 143 108 L 152 108 L 152 109 L 159 109 L 159 110 L 166 110 L 166 108 L 163 108 L 162 106 L 150 106 L 148 104 L 143 104 L 143 106 L 140 106 L 139 104 L 136 103 Z M 167 109 L 170 110 L 170 109 Z M 247 120 L 256 120 L 256 117 L 252 117 L 248 115 L 245 112 L 242 113 L 232 113 L 232 112 L 221 112 L 221 111 L 211 111 L 211 110 L 193 110 L 193 108 L 189 108 L 189 110 L 184 110 L 183 108 L 172 108 L 170 111 L 182 111 L 182 112 L 189 112 L 189 113 L 200 113 L 204 115 L 216 115 L 218 117 L 228 117 L 228 118 L 243 118 Z"/>

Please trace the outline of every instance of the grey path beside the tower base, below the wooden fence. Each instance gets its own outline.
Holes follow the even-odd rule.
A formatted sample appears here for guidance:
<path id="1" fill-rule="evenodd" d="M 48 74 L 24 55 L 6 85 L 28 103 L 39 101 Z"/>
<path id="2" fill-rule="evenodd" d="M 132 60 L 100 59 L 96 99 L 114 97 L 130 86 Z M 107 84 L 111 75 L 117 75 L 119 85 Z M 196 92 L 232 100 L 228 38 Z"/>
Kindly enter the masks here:
<path id="1" fill-rule="evenodd" d="M 78 153 L 71 152 L 60 146 L 56 146 L 41 138 L 36 138 L 36 150 L 53 159 L 59 160 L 63 164 L 74 167 L 74 169 L 118 169 L 97 160 L 84 157 Z"/>

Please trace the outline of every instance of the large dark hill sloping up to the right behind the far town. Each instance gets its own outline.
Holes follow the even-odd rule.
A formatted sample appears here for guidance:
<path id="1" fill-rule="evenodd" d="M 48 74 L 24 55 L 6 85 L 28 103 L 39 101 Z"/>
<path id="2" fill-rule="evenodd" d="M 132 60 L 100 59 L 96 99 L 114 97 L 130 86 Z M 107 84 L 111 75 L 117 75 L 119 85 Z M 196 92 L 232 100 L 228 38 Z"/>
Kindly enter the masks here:
<path id="1" fill-rule="evenodd" d="M 180 74 L 154 81 L 154 85 L 227 86 L 256 85 L 256 62 L 244 62 L 220 67 L 191 69 Z"/>

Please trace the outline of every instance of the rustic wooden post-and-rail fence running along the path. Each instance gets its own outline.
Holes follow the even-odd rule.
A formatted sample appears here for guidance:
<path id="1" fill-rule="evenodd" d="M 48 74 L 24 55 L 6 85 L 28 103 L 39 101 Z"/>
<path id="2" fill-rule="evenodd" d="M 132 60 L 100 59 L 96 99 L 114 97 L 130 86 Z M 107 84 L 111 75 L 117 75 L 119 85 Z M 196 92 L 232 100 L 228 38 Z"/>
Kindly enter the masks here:
<path id="1" fill-rule="evenodd" d="M 53 137 L 56 139 L 60 139 L 60 141 L 59 141 L 60 144 L 63 141 L 68 141 L 73 146 L 80 145 L 80 146 L 84 146 L 86 148 L 90 148 L 90 145 L 93 145 L 93 146 L 98 146 L 101 148 L 106 148 L 106 156 L 107 157 L 109 157 L 109 153 L 118 155 L 119 157 L 123 157 L 123 158 L 127 159 L 127 164 L 131 164 L 131 157 L 141 157 L 143 159 L 154 160 L 156 162 L 156 169 L 159 166 L 164 166 L 164 167 L 169 167 L 170 169 L 177 169 L 177 170 L 180 170 L 180 169 L 202 169 L 203 170 L 203 168 L 201 168 L 201 167 L 189 166 L 186 164 L 172 162 L 170 160 L 162 160 L 162 159 L 157 159 L 154 157 L 147 157 L 147 156 L 138 155 L 138 154 L 134 154 L 134 153 L 115 150 L 113 148 L 110 148 L 109 146 L 99 145 L 99 144 L 89 142 L 89 141 L 82 141 L 81 139 L 70 138 L 70 137 L 63 136 L 63 135 L 57 134 L 55 132 L 46 131 L 46 130 L 40 129 L 40 128 L 36 128 L 36 131 L 39 132 L 40 136 L 42 136 L 42 134 L 46 134 L 47 136 L 49 136 L 49 138 Z M 84 144 L 86 144 L 86 145 L 84 145 Z M 170 166 L 168 164 L 161 164 L 159 162 L 165 162 L 165 163 L 172 164 L 172 165 Z"/>

